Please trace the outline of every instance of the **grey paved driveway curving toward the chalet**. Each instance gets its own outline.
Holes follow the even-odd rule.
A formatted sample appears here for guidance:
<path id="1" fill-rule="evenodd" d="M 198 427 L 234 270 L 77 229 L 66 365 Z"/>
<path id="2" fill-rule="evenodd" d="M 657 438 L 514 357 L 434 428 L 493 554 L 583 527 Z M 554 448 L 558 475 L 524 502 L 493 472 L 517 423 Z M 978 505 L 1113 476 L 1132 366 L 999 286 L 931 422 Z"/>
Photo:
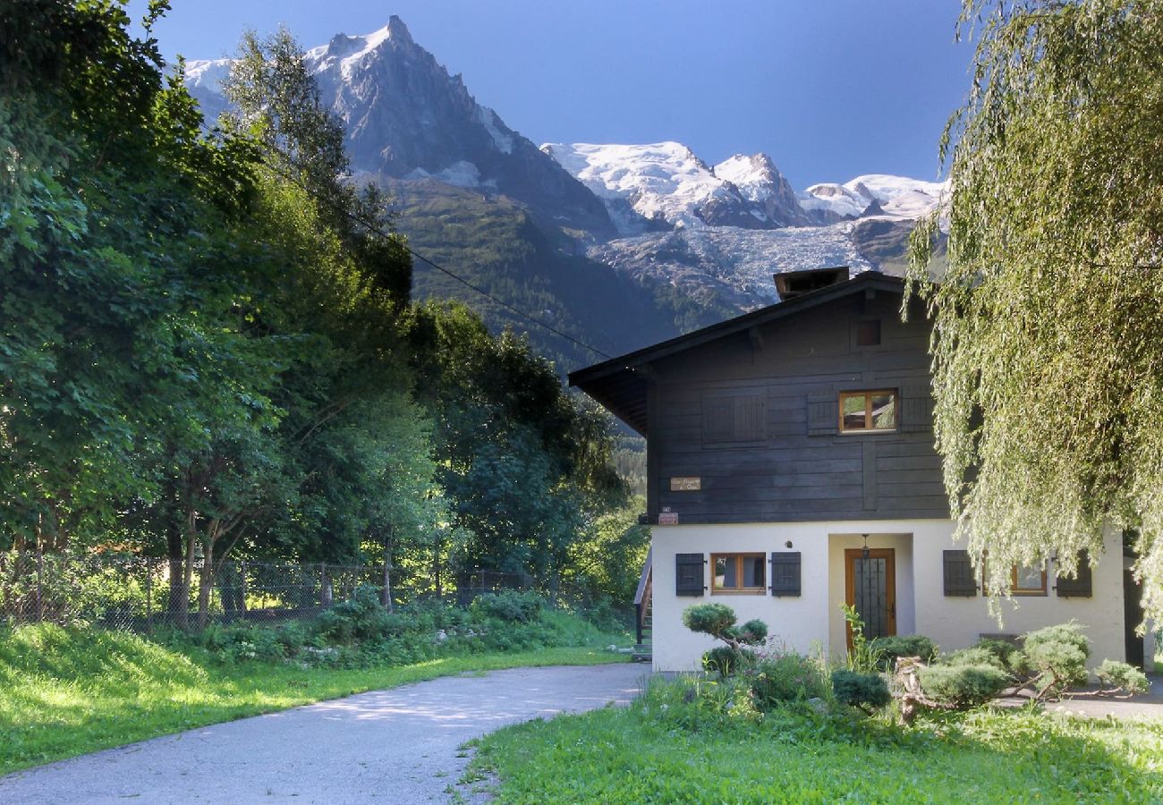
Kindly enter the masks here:
<path id="1" fill-rule="evenodd" d="M 0 777 L 0 803 L 444 802 L 465 741 L 629 701 L 647 672 L 516 668 L 359 693 L 17 771 Z"/>

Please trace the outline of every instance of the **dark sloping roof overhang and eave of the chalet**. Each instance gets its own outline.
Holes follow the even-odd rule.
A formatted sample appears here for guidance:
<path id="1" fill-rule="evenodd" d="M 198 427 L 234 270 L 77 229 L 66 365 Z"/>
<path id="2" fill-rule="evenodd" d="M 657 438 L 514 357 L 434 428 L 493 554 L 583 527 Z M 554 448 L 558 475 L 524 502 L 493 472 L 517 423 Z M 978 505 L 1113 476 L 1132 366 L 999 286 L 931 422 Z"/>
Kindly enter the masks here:
<path id="1" fill-rule="evenodd" d="M 761 307 L 757 311 L 720 321 L 716 325 L 704 327 L 702 329 L 670 339 L 669 341 L 643 347 L 620 357 L 586 366 L 585 369 L 578 369 L 570 372 L 570 385 L 582 389 L 582 391 L 598 400 L 612 414 L 645 436 L 648 428 L 647 396 L 654 378 L 654 370 L 650 366 L 652 362 L 685 352 L 686 350 L 737 333 L 745 333 L 752 327 L 786 319 L 865 290 L 904 293 L 905 280 L 878 271 L 865 271 L 847 282 L 828 285 L 827 287 L 804 293 L 787 301 Z"/>

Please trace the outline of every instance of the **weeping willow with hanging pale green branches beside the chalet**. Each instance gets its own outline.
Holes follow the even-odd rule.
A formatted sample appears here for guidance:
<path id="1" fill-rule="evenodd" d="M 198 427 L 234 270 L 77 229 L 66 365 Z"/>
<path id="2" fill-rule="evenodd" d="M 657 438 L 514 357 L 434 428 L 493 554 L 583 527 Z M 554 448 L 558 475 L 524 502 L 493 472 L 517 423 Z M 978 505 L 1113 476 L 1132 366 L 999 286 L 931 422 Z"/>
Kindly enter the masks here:
<path id="1" fill-rule="evenodd" d="M 1134 529 L 1160 618 L 1163 2 L 965 0 L 961 33 L 978 44 L 942 141 L 950 197 L 911 269 L 958 534 L 1003 592 L 1014 563 L 1070 572 L 1105 527 Z"/>

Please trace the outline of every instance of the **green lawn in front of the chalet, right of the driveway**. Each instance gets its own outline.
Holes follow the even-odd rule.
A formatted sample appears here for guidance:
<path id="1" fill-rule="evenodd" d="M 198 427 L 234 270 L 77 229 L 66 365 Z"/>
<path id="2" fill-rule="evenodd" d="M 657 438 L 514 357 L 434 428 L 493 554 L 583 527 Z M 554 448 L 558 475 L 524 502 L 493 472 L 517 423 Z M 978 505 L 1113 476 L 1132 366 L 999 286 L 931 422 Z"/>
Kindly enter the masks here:
<path id="1" fill-rule="evenodd" d="M 628 708 L 487 735 L 466 778 L 495 776 L 506 803 L 1163 799 L 1163 722 L 978 711 L 906 729 L 777 711 L 699 724 L 656 684 Z"/>

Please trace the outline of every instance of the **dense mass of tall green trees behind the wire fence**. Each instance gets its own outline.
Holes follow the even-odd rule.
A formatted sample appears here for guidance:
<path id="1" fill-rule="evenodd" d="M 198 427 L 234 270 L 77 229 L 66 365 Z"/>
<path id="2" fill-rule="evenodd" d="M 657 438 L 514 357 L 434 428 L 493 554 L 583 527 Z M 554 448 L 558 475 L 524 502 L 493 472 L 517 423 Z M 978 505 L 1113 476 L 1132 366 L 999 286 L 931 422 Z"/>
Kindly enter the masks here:
<path id="1" fill-rule="evenodd" d="M 580 577 L 579 542 L 636 557 L 601 521 L 608 419 L 521 339 L 409 305 L 387 199 L 350 183 L 286 31 L 243 37 L 213 134 L 177 66 L 116 2 L 0 26 L 0 549 L 166 555 L 199 625 L 235 555 L 385 562 L 413 596 L 433 568 Z"/>

